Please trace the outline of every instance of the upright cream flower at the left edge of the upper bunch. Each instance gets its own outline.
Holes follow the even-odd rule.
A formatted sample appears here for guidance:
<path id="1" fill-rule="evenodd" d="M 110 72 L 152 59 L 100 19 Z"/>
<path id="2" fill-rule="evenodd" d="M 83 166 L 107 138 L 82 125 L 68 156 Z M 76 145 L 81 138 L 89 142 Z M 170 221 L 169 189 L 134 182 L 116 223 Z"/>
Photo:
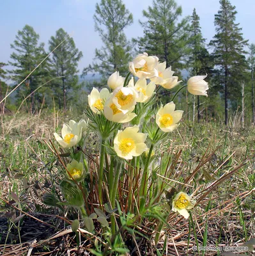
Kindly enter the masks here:
<path id="1" fill-rule="evenodd" d="M 103 88 L 100 92 L 96 88 L 93 88 L 91 93 L 88 95 L 89 107 L 94 113 L 100 114 L 104 109 L 104 102 L 109 98 L 109 96 L 110 93 L 107 88 Z"/>

